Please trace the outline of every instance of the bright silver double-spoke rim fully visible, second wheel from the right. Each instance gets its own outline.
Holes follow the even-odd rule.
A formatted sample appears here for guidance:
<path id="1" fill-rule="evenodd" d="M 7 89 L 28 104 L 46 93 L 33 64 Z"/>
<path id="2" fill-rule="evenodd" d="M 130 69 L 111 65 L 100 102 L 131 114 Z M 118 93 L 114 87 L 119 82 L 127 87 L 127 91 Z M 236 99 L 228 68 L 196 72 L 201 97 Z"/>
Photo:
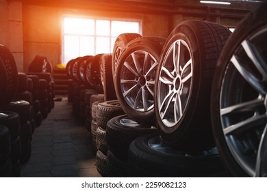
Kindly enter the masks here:
<path id="1" fill-rule="evenodd" d="M 158 79 L 157 109 L 166 131 L 175 130 L 188 107 L 192 74 L 190 48 L 184 40 L 177 40 L 166 52 Z"/>

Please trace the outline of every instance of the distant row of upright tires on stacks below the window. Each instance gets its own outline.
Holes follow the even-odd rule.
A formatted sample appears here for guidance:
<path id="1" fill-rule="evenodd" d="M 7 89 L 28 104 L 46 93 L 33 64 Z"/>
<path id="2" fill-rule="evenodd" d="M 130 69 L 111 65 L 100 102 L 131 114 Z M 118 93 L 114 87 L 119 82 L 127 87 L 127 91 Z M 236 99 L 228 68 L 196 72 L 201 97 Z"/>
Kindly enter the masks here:
<path id="1" fill-rule="evenodd" d="M 68 75 L 68 101 L 73 102 L 73 113 L 81 122 L 86 122 L 86 100 L 90 100 L 87 91 L 102 93 L 103 86 L 100 77 L 99 59 L 101 54 L 95 56 L 77 57 L 68 61 L 66 73 Z M 87 122 L 86 122 L 87 123 Z"/>

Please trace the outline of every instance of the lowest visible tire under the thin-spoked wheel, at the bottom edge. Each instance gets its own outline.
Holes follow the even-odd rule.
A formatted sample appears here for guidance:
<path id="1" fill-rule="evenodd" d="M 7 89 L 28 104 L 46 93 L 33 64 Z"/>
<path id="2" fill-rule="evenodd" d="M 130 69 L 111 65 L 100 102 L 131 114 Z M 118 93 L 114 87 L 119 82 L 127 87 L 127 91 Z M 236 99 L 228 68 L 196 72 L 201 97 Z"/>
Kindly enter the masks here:
<path id="1" fill-rule="evenodd" d="M 107 152 L 106 165 L 107 165 L 107 177 L 128 176 L 127 161 L 118 158 L 111 151 Z"/>

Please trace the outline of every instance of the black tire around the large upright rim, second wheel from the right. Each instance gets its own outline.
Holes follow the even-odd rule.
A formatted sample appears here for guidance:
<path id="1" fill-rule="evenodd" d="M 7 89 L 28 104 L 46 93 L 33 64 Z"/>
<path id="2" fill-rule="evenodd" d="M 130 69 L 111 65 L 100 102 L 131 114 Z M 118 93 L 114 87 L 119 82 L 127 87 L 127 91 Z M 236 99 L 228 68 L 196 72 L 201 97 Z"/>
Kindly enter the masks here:
<path id="1" fill-rule="evenodd" d="M 226 27 L 201 20 L 186 20 L 177 25 L 172 33 L 170 33 L 164 45 L 164 49 L 162 50 L 155 84 L 155 114 L 157 127 L 160 130 L 160 135 L 167 144 L 184 151 L 203 151 L 215 146 L 210 119 L 210 93 L 216 62 L 230 33 L 229 29 Z M 181 52 L 181 57 L 184 57 L 184 59 L 181 59 L 181 62 L 183 60 L 186 62 L 188 59 L 192 60 L 190 62 L 192 68 L 188 69 L 190 74 L 192 73 L 192 78 L 189 77 L 189 80 L 186 80 L 187 83 L 190 83 L 188 87 L 189 93 L 185 95 L 188 100 L 181 103 L 183 104 L 181 117 L 177 120 L 173 117 L 173 121 L 175 121 L 174 124 L 166 125 L 164 121 L 170 120 L 170 117 L 174 115 L 170 113 L 162 120 L 161 113 L 163 112 L 160 111 L 160 105 L 162 103 L 159 102 L 164 102 L 168 91 L 171 93 L 171 91 L 175 90 L 163 89 L 167 87 L 167 85 L 164 85 L 164 87 L 160 89 L 159 86 L 163 83 L 159 79 L 163 78 L 160 75 L 166 74 L 166 71 L 164 72 L 162 68 L 170 67 L 164 64 L 173 62 L 167 60 L 172 57 L 172 55 L 169 56 L 167 53 L 171 50 L 170 48 L 173 47 L 173 44 L 177 44 L 178 41 L 183 41 L 181 44 L 187 44 L 183 45 L 186 47 L 183 49 L 186 50 Z M 186 75 L 186 77 L 189 76 L 189 74 Z M 173 83 L 176 82 L 177 80 L 173 80 Z M 175 87 L 174 89 L 177 89 L 176 86 L 176 84 L 173 86 Z M 178 94 L 174 94 L 173 96 L 177 96 L 177 98 L 174 99 L 178 100 Z M 175 105 L 174 103 L 173 101 L 170 102 L 170 104 Z"/>

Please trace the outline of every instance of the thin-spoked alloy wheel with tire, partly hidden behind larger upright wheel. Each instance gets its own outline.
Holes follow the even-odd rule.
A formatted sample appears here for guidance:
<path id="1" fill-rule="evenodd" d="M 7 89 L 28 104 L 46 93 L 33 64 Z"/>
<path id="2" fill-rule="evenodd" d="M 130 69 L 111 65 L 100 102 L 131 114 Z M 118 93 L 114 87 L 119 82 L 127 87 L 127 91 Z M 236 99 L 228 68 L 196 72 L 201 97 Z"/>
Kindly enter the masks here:
<path id="1" fill-rule="evenodd" d="M 137 38 L 118 60 L 114 76 L 117 98 L 123 111 L 140 123 L 155 123 L 155 74 L 164 42 L 162 38 Z"/>

